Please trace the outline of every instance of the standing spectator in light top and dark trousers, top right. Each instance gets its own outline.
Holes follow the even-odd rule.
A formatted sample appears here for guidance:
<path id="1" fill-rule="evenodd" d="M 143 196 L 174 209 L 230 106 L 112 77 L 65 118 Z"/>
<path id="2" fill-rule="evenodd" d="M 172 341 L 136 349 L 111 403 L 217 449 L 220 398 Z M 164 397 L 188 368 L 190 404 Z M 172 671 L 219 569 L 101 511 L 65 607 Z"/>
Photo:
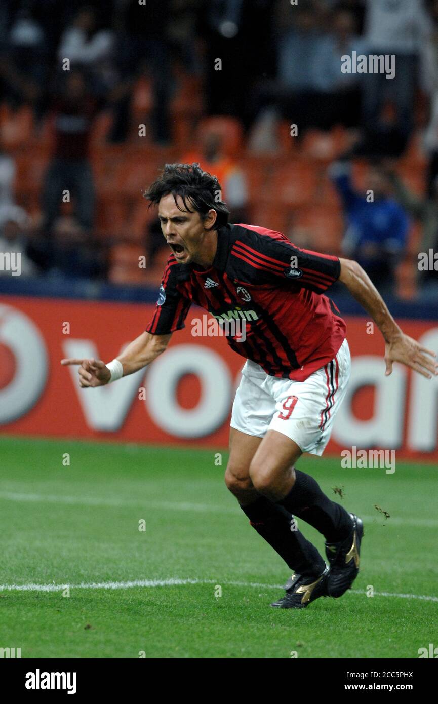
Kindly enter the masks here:
<path id="1" fill-rule="evenodd" d="M 362 76 L 365 139 L 357 153 L 399 156 L 413 129 L 415 86 L 430 20 L 423 0 L 367 0 L 366 8 L 367 53 L 394 55 L 396 70 L 391 79 L 385 73 Z M 388 94 L 396 111 L 392 125 L 382 120 Z"/>

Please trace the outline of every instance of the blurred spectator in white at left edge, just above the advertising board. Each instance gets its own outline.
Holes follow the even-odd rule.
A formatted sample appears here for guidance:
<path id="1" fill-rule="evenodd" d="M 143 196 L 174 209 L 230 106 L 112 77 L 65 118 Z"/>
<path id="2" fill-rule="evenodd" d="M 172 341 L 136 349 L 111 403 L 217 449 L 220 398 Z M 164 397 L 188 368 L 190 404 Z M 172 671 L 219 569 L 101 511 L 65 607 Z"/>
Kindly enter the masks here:
<path id="1" fill-rule="evenodd" d="M 0 206 L 0 253 L 20 256 L 20 276 L 32 276 L 37 272 L 35 264 L 27 253 L 29 226 L 30 220 L 23 208 L 11 205 Z M 11 273 L 0 268 L 1 275 L 11 276 Z"/>

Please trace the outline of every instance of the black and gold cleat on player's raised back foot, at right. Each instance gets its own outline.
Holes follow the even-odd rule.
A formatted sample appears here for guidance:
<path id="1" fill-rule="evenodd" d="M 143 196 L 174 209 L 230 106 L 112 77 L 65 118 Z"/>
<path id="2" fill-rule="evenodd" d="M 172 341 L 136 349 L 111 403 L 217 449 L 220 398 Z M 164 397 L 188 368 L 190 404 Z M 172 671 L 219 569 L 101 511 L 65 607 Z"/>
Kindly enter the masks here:
<path id="1" fill-rule="evenodd" d="M 350 513 L 350 516 L 353 521 L 351 534 L 339 543 L 325 543 L 325 554 L 330 563 L 327 593 L 334 598 L 342 596 L 347 589 L 351 589 L 351 584 L 359 572 L 363 522 L 354 513 Z"/>

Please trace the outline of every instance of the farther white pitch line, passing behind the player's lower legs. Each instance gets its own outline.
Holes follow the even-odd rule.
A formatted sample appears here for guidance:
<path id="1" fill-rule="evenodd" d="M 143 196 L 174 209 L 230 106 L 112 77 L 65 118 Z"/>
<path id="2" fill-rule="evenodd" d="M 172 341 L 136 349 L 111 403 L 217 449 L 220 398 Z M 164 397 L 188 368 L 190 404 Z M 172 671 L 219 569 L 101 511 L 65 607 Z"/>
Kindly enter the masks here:
<path id="1" fill-rule="evenodd" d="M 0 501 L 31 501 L 34 503 L 70 503 L 88 506 L 113 506 L 115 508 L 123 506 L 142 506 L 157 510 L 170 511 L 194 511 L 195 513 L 232 513 L 242 515 L 237 505 L 218 506 L 210 503 L 191 503 L 189 501 L 131 501 L 120 498 L 101 498 L 99 496 L 65 496 L 64 494 L 20 494 L 13 491 L 0 491 Z M 365 522 L 378 522 L 385 526 L 417 526 L 422 528 L 438 527 L 436 518 L 401 518 L 399 516 L 384 518 L 375 513 L 372 516 L 361 515 Z"/>

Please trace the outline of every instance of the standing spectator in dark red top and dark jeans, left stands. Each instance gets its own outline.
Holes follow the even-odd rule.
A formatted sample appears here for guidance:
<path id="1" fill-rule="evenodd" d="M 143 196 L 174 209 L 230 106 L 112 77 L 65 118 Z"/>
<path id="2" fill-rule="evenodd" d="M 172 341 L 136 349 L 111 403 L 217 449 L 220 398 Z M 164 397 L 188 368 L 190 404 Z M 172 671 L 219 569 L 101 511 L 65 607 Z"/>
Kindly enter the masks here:
<path id="1" fill-rule="evenodd" d="M 54 153 L 44 179 L 42 230 L 49 233 L 63 202 L 63 191 L 74 197 L 81 227 L 94 220 L 94 182 L 89 163 L 89 134 L 99 103 L 87 90 L 80 70 L 65 71 L 65 84 L 51 105 L 54 113 Z"/>

